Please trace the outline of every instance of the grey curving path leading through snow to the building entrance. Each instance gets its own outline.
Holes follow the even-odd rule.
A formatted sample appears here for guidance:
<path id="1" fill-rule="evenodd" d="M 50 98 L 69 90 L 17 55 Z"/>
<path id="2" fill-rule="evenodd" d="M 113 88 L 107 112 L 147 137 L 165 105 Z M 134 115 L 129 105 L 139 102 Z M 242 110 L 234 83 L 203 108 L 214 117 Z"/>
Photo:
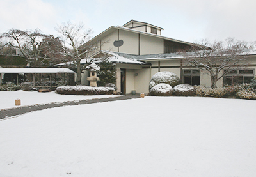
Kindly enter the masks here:
<path id="1" fill-rule="evenodd" d="M 111 102 L 116 100 L 128 100 L 133 98 L 140 98 L 140 95 L 124 95 L 114 98 L 99 98 L 99 99 L 92 99 L 92 100 L 80 100 L 80 101 L 70 101 L 70 102 L 60 102 L 60 103 L 53 103 L 53 104 L 44 104 L 44 105 L 28 105 L 22 107 L 15 107 L 10 109 L 4 109 L 0 111 L 0 119 L 9 118 L 12 116 L 17 116 L 20 114 L 25 114 L 31 111 L 38 111 L 42 109 L 52 108 L 52 107 L 61 107 L 65 105 L 81 105 L 81 104 L 94 104 L 99 102 Z"/>

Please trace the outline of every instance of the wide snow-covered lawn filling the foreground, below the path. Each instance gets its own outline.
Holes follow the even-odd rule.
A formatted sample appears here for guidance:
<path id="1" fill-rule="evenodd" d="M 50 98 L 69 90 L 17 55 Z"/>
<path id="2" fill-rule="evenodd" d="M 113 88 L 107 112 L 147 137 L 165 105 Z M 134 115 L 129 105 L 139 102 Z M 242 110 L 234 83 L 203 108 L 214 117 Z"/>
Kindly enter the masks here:
<path id="1" fill-rule="evenodd" d="M 256 101 L 153 97 L 0 121 L 0 176 L 256 176 Z"/>

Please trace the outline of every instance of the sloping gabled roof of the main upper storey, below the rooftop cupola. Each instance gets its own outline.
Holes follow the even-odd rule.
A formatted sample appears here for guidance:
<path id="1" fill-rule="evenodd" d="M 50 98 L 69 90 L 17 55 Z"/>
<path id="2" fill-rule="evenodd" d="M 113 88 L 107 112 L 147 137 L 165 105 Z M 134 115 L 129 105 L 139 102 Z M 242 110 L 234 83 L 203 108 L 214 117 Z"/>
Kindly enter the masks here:
<path id="1" fill-rule="evenodd" d="M 147 32 L 139 31 L 139 30 L 136 30 L 136 29 L 130 29 L 129 27 L 124 27 L 124 26 L 111 26 L 108 29 L 106 29 L 105 31 L 103 31 L 102 33 L 100 33 L 99 35 L 92 38 L 89 42 L 92 42 L 93 40 L 100 40 L 101 38 L 104 38 L 104 37 L 108 36 L 109 34 L 113 33 L 116 29 L 120 29 L 120 30 L 124 30 L 124 31 L 130 31 L 132 33 L 138 33 L 138 34 L 147 35 L 147 36 L 152 36 L 152 37 L 155 37 L 155 38 L 161 38 L 161 39 L 164 39 L 164 40 L 170 40 L 172 42 L 178 42 L 178 43 L 184 43 L 184 44 L 187 44 L 187 45 L 198 46 L 195 43 L 184 42 L 182 40 L 175 40 L 173 38 L 168 38 L 168 37 L 165 37 L 165 36 L 160 36 L 160 35 L 156 35 L 156 34 L 152 34 L 152 33 L 147 33 Z"/>

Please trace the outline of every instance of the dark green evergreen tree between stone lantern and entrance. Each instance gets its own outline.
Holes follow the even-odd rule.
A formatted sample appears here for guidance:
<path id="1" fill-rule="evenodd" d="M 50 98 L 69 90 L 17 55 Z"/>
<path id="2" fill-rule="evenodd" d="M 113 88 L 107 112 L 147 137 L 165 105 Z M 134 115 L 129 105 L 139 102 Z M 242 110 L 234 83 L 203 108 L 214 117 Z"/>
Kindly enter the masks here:
<path id="1" fill-rule="evenodd" d="M 97 82 L 98 86 L 105 86 L 106 84 L 116 84 L 116 68 L 115 64 L 109 62 L 108 58 L 102 58 L 99 63 L 100 72 L 97 73 L 100 81 Z"/>

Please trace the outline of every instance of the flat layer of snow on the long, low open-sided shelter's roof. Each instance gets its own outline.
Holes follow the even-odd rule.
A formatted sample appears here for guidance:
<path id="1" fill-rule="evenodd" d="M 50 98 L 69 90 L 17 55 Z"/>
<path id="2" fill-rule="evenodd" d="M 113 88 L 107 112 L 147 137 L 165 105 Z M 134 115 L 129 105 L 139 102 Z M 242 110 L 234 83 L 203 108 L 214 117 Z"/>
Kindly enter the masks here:
<path id="1" fill-rule="evenodd" d="M 75 73 L 68 68 L 0 68 L 0 73 Z"/>

